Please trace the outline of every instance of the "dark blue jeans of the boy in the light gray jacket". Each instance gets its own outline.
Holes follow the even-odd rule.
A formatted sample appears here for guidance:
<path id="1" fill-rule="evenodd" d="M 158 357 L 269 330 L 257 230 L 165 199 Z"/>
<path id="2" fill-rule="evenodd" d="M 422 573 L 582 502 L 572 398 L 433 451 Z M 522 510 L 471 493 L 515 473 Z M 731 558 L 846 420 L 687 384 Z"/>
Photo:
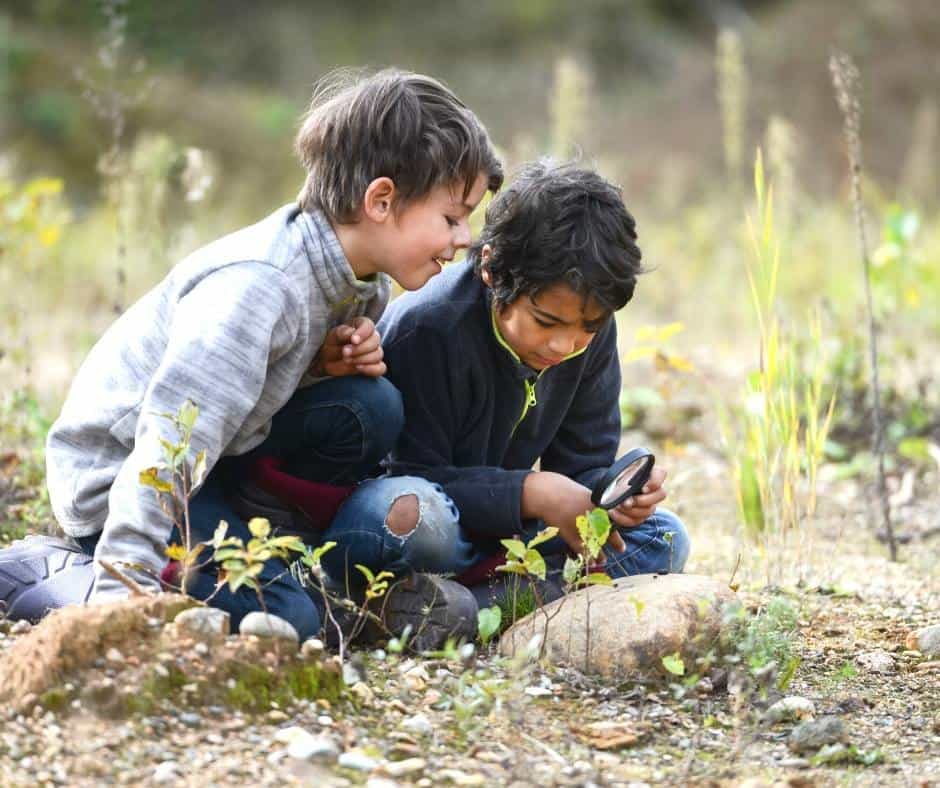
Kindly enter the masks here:
<path id="1" fill-rule="evenodd" d="M 249 454 L 221 460 L 190 501 L 193 542 L 212 539 L 220 520 L 228 522 L 228 535 L 244 542 L 252 538 L 248 525 L 227 501 L 229 485 L 237 483 L 249 460 L 271 455 L 283 460 L 285 472 L 311 481 L 349 484 L 369 475 L 391 450 L 404 424 L 401 395 L 384 378 L 350 376 L 332 378 L 299 389 L 274 416 L 271 433 Z M 94 554 L 97 535 L 80 540 Z M 181 542 L 174 529 L 173 542 Z M 216 590 L 218 567 L 210 563 L 187 582 L 187 592 L 208 599 Z M 259 576 L 269 613 L 293 624 L 301 640 L 320 631 L 320 610 L 283 561 L 266 562 Z M 261 610 L 257 594 L 244 586 L 228 586 L 210 600 L 231 616 L 233 631 L 244 616 Z"/>

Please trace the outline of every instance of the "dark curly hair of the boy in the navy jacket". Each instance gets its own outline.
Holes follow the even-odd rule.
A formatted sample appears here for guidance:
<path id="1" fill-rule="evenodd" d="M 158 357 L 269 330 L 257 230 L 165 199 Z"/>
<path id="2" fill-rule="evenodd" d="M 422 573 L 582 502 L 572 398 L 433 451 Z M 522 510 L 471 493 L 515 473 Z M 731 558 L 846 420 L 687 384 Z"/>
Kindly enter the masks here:
<path id="1" fill-rule="evenodd" d="M 489 244 L 485 266 L 497 307 L 564 283 L 616 312 L 645 272 L 636 238 L 620 189 L 593 170 L 543 159 L 493 199 L 467 259 L 479 276 Z"/>

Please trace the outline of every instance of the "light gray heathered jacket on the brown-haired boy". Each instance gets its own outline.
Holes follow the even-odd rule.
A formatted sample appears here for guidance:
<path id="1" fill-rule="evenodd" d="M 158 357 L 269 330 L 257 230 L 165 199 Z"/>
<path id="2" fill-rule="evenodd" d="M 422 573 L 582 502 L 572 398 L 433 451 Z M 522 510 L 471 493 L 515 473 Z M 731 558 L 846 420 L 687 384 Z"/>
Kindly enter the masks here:
<path id="1" fill-rule="evenodd" d="M 334 326 L 377 320 L 389 280 L 357 280 L 320 213 L 288 205 L 191 254 L 105 332 L 75 376 L 46 447 L 49 496 L 66 533 L 102 531 L 95 554 L 159 574 L 172 529 L 140 471 L 176 441 L 161 413 L 199 407 L 207 467 L 244 454 L 300 385 Z M 96 565 L 94 596 L 126 593 Z M 146 572 L 124 569 L 150 588 Z"/>

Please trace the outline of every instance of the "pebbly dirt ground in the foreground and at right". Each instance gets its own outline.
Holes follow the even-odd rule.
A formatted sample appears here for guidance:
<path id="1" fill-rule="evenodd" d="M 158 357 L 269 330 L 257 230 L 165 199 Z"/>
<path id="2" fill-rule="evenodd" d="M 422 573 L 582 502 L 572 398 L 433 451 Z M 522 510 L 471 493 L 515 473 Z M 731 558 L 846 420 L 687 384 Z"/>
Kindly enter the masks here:
<path id="1" fill-rule="evenodd" d="M 811 534 L 778 554 L 786 560 L 768 553 L 768 585 L 768 564 L 733 531 L 723 461 L 694 446 L 668 461 L 672 506 L 694 539 L 687 571 L 723 580 L 734 572 L 752 610 L 778 596 L 798 609 L 800 662 L 786 694 L 811 701 L 817 718 L 840 718 L 857 757 L 816 764 L 793 753 L 795 723 L 761 721 L 773 691 L 742 695 L 710 681 L 611 686 L 562 668 L 508 666 L 489 652 L 468 666 L 453 654 L 369 651 L 352 661 L 358 675 L 349 680 L 361 683 L 332 703 L 251 713 L 177 698 L 119 719 L 81 702 L 8 711 L 0 784 L 940 785 L 940 665 L 905 646 L 912 630 L 940 623 L 940 541 L 918 538 L 937 524 L 936 497 L 915 490 L 896 499 L 910 541 L 892 563 L 871 536 L 865 488 L 824 482 Z M 7 651 L 23 634 L 4 629 Z M 128 646 L 120 658 L 102 655 L 96 670 L 133 685 L 157 656 Z M 297 728 L 324 752 L 289 754 Z"/>

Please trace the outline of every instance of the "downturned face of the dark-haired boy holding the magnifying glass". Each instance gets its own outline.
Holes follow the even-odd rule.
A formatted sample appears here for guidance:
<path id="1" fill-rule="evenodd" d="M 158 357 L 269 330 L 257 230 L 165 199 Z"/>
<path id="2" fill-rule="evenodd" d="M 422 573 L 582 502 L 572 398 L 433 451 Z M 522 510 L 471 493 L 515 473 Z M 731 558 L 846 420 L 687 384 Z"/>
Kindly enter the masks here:
<path id="1" fill-rule="evenodd" d="M 482 273 L 487 282 L 485 268 Z M 579 293 L 559 283 L 497 308 L 496 325 L 522 363 L 541 371 L 584 350 L 608 317 L 610 313 L 591 299 L 585 303 Z"/>

